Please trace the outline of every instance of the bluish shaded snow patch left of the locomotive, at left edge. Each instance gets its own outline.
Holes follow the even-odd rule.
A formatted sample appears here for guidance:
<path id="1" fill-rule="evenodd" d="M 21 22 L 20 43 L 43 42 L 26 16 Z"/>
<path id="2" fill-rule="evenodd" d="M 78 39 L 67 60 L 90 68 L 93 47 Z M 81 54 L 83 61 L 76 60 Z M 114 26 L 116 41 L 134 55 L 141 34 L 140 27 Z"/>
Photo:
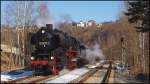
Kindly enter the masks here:
<path id="1" fill-rule="evenodd" d="M 25 76 L 31 76 L 32 71 L 15 70 L 11 72 L 1 72 L 1 81 L 15 80 Z"/>

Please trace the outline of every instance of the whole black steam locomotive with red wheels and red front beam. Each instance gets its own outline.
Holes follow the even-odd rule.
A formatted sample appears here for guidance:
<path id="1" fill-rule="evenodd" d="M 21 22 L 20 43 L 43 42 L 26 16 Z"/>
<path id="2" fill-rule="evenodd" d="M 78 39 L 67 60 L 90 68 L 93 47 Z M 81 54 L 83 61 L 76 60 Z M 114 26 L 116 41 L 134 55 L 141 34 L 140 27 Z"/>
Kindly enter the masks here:
<path id="1" fill-rule="evenodd" d="M 80 57 L 82 47 L 74 37 L 46 24 L 31 36 L 33 47 L 31 67 L 35 75 L 56 75 L 63 68 L 82 67 L 86 61 Z"/>

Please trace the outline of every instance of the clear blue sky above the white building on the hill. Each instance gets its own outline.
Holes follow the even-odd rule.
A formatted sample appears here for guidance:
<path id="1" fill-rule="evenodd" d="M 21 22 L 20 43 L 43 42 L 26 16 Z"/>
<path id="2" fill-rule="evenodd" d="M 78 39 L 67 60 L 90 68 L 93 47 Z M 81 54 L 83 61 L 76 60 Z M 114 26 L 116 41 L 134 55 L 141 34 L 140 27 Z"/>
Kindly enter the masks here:
<path id="1" fill-rule="evenodd" d="M 1 1 L 1 21 L 4 22 L 6 1 Z M 38 2 L 40 3 L 40 2 Z M 68 15 L 73 21 L 95 20 L 97 23 L 115 21 L 123 8 L 123 1 L 46 1 L 54 21 Z"/>

